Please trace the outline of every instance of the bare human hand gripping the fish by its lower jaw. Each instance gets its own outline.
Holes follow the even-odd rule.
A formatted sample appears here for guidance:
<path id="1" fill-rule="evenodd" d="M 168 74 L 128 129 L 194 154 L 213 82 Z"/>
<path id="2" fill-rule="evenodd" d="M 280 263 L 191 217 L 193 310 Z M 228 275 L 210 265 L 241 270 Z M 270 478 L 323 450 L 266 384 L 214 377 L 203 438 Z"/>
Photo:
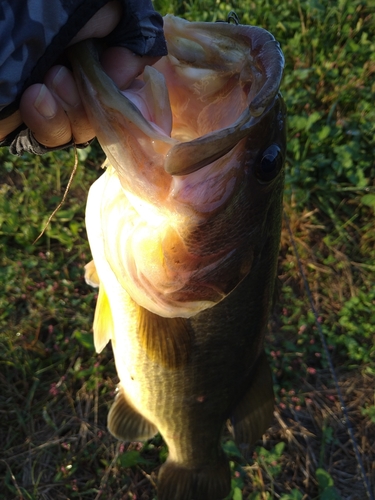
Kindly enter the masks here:
<path id="1" fill-rule="evenodd" d="M 102 38 L 116 27 L 121 5 L 115 0 L 101 8 L 78 32 L 69 45 L 87 38 Z M 119 88 L 126 88 L 146 65 L 159 57 L 137 56 L 129 49 L 111 47 L 103 52 L 102 64 Z M 32 131 L 34 138 L 47 148 L 63 146 L 73 138 L 84 144 L 94 137 L 73 74 L 64 66 L 53 66 L 44 83 L 28 87 L 22 95 L 19 110 L 0 121 L 0 140 L 19 125 Z"/>

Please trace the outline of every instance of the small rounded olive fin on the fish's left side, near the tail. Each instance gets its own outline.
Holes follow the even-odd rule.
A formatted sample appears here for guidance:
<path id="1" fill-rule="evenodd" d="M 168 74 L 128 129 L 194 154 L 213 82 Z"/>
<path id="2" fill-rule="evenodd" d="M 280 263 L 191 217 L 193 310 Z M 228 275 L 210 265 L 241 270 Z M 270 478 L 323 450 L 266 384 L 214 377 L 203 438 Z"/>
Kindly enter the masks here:
<path id="1" fill-rule="evenodd" d="M 108 413 L 108 430 L 123 441 L 147 441 L 158 429 L 133 408 L 120 386 L 119 393 Z"/>

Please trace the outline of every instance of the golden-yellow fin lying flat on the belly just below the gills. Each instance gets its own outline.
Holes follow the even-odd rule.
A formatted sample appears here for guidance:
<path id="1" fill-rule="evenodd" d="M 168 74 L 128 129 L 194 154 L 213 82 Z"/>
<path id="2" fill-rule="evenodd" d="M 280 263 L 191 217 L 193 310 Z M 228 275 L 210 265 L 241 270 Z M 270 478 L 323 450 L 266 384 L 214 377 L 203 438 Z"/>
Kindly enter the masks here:
<path id="1" fill-rule="evenodd" d="M 149 358 L 168 368 L 184 365 L 190 356 L 193 332 L 185 318 L 164 318 L 138 309 L 140 341 Z"/>

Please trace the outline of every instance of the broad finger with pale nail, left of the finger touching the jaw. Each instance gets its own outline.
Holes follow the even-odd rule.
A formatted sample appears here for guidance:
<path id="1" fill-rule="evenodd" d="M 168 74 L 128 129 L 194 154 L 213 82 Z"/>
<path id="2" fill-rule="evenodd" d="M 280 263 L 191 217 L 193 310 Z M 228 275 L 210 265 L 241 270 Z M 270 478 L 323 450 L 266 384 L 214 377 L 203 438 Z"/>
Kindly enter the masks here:
<path id="1" fill-rule="evenodd" d="M 69 118 L 46 85 L 28 87 L 21 97 L 20 111 L 24 123 L 44 146 L 62 146 L 71 140 Z"/>

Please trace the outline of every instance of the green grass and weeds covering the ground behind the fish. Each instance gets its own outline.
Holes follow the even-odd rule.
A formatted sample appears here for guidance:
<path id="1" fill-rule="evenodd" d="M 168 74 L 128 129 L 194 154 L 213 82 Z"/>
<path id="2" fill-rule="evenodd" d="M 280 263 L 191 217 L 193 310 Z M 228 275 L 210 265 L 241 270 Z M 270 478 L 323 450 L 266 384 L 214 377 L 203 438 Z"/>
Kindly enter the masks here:
<path id="1" fill-rule="evenodd" d="M 271 31 L 286 57 L 284 209 L 327 339 L 370 488 L 375 489 L 375 2 L 155 1 L 189 20 L 225 19 Z M 0 151 L 0 497 L 153 499 L 166 449 L 118 443 L 106 431 L 116 373 L 93 350 L 95 292 L 84 229 L 97 145 L 12 157 Z M 267 352 L 275 420 L 245 462 L 234 444 L 234 500 L 366 498 L 340 402 L 286 228 Z"/>

